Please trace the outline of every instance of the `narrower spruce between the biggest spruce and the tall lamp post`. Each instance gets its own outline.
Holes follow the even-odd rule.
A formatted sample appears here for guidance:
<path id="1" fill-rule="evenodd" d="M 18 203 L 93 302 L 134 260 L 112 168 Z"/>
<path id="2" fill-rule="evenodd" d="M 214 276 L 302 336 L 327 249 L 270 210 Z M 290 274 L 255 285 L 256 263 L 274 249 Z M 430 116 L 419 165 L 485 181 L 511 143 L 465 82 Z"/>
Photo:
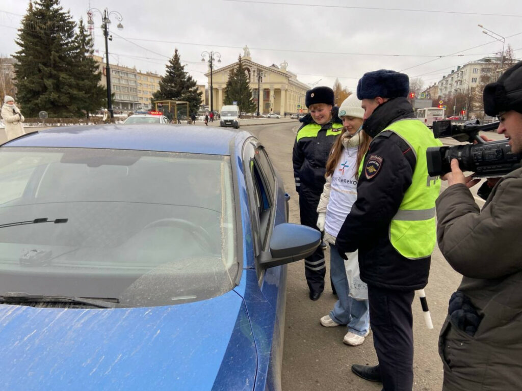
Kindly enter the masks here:
<path id="1" fill-rule="evenodd" d="M 101 73 L 98 64 L 92 58 L 94 53 L 93 42 L 87 32 L 84 21 L 80 19 L 76 35 L 77 66 L 74 68 L 77 88 L 81 93 L 81 102 L 78 106 L 89 116 L 107 104 L 107 89 L 100 84 Z"/>

